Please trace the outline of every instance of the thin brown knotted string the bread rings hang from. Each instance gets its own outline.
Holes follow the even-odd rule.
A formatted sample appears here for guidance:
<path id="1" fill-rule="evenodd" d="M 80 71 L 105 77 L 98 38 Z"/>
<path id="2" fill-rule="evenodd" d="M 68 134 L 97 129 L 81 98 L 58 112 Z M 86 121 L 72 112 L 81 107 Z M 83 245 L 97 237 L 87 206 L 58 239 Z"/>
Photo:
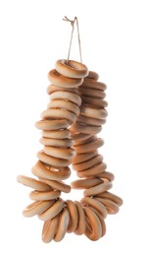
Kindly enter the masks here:
<path id="1" fill-rule="evenodd" d="M 77 17 L 75 17 L 74 21 L 68 19 L 68 17 L 65 16 L 65 18 L 63 19 L 63 21 L 65 22 L 70 22 L 73 29 L 72 29 L 72 33 L 71 33 L 71 40 L 70 40 L 70 46 L 69 46 L 69 53 L 68 53 L 68 60 L 67 62 L 69 63 L 70 60 L 70 53 L 71 53 L 71 47 L 72 47 L 72 41 L 73 41 L 73 34 L 74 34 L 74 30 L 75 30 L 75 23 L 76 23 L 76 28 L 77 28 L 77 38 L 78 38 L 78 46 L 79 46 L 79 57 L 80 57 L 80 62 L 82 63 L 82 57 L 81 57 L 81 46 L 80 46 L 80 36 L 79 36 L 79 27 L 78 27 L 78 19 Z"/>

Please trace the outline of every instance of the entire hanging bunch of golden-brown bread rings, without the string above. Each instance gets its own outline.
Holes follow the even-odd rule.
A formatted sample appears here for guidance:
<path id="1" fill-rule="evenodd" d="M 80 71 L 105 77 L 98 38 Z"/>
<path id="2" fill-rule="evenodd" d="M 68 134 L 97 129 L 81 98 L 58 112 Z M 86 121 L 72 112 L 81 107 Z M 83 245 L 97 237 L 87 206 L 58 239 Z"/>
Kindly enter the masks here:
<path id="1" fill-rule="evenodd" d="M 34 202 L 23 214 L 37 215 L 44 221 L 44 242 L 61 241 L 66 232 L 84 233 L 98 240 L 105 234 L 107 214 L 117 213 L 123 204 L 121 198 L 107 191 L 114 175 L 106 171 L 97 151 L 103 145 L 96 134 L 107 116 L 106 86 L 97 82 L 95 72 L 88 72 L 85 65 L 73 60 L 58 60 L 48 78 L 51 100 L 36 122 L 42 130 L 43 145 L 31 170 L 36 179 L 18 176 L 18 182 L 34 189 L 29 194 Z M 61 192 L 71 191 L 63 181 L 71 175 L 71 163 L 81 178 L 72 182 L 72 188 L 85 189 L 80 202 L 61 198 Z"/>

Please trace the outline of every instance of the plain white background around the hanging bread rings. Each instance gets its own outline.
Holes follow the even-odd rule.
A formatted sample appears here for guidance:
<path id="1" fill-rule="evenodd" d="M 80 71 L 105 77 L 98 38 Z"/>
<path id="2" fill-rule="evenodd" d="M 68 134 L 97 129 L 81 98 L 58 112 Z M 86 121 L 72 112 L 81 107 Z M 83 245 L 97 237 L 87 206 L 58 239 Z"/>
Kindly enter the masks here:
<path id="1" fill-rule="evenodd" d="M 46 108 L 47 72 L 67 58 L 71 25 L 79 20 L 83 63 L 108 85 L 109 116 L 101 137 L 112 192 L 124 199 L 107 233 L 92 242 L 68 234 L 44 244 L 37 218 L 25 219 L 28 188 L 16 182 L 30 174 L 40 133 L 34 122 Z M 149 7 L 140 0 L 0 1 L 0 255 L 148 255 Z M 76 35 L 71 58 L 79 60 Z M 73 192 L 70 199 L 79 198 Z"/>

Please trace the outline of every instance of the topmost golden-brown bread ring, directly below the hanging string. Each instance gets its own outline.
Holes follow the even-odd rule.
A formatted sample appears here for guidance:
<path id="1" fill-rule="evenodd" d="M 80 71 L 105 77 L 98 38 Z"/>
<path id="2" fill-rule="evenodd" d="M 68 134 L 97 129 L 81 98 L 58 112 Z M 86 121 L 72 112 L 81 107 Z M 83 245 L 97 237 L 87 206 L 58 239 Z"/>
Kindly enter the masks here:
<path id="1" fill-rule="evenodd" d="M 63 76 L 69 78 L 83 78 L 88 75 L 87 67 L 74 60 L 57 60 L 56 70 Z"/>

